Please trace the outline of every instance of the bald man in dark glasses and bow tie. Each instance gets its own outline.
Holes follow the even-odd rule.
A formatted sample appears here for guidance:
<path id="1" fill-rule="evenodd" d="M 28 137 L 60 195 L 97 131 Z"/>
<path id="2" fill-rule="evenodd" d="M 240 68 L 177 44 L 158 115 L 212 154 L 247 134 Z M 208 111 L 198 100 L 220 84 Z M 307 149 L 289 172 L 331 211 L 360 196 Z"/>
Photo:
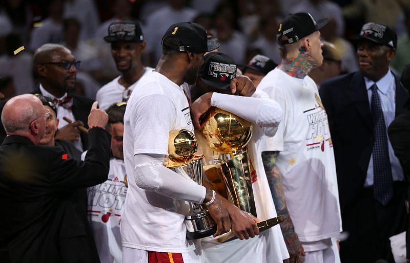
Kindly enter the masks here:
<path id="1" fill-rule="evenodd" d="M 77 127 L 83 123 L 87 127 L 93 100 L 73 94 L 80 61 L 75 60 L 66 47 L 48 43 L 34 52 L 33 63 L 40 81 L 33 93 L 52 98 L 61 120 L 64 117 L 73 120 L 71 124 L 59 122 L 56 139 L 69 140 L 80 151 L 86 150 L 87 135 L 80 134 Z"/>

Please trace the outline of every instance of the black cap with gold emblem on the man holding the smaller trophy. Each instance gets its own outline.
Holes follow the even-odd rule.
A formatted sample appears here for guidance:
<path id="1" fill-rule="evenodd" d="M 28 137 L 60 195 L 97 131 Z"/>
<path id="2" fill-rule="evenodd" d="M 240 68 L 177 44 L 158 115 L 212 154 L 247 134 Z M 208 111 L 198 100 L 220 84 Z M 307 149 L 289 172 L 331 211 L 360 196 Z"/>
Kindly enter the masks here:
<path id="1" fill-rule="evenodd" d="M 178 39 L 181 46 L 174 47 L 164 43 L 163 40 L 167 37 Z M 208 39 L 207 31 L 201 25 L 192 22 L 181 22 L 169 27 L 162 37 L 162 46 L 193 53 L 205 53 L 218 48 L 215 40 Z"/>

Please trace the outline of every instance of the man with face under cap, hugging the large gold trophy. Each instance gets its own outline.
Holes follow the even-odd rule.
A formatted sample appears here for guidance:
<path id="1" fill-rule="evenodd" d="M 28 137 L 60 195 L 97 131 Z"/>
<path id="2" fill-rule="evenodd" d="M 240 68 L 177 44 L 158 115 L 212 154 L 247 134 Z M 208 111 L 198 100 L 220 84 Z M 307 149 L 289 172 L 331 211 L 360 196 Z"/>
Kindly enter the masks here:
<path id="1" fill-rule="evenodd" d="M 252 122 L 252 137 L 247 149 L 249 162 L 254 168 L 254 172 L 251 172 L 251 181 L 255 209 L 259 220 L 268 220 L 277 216 L 277 213 L 263 170 L 259 148 L 263 135 L 273 136 L 275 134 L 281 120 L 282 110 L 278 103 L 260 90 L 247 96 L 233 96 L 230 82 L 236 76 L 236 64 L 226 54 L 213 52 L 206 55 L 204 59 L 205 62 L 199 70 L 196 85 L 192 87 L 192 90 L 196 90 L 201 96 L 191 105 L 193 123 L 198 132 L 196 135 L 198 148 L 204 155 L 204 164 L 211 166 L 219 164 L 223 156 L 209 147 L 199 132 L 199 118 L 203 111 L 207 111 L 211 106 L 217 106 Z M 249 110 L 250 108 L 252 111 Z M 208 181 L 214 186 L 212 178 Z M 236 239 L 221 244 L 212 237 L 202 238 L 201 247 L 202 262 L 281 263 L 284 259 L 289 258 L 279 226 L 246 241 Z M 227 251 L 234 253 L 226 253 Z"/>

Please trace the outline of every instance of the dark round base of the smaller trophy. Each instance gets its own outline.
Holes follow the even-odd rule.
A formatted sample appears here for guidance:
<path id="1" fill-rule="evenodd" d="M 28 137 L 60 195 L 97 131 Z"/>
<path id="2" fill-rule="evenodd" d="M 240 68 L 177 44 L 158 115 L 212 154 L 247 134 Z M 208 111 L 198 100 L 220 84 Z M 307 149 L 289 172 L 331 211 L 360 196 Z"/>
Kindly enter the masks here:
<path id="1" fill-rule="evenodd" d="M 217 226 L 208 210 L 185 217 L 187 239 L 198 239 L 215 234 Z"/>

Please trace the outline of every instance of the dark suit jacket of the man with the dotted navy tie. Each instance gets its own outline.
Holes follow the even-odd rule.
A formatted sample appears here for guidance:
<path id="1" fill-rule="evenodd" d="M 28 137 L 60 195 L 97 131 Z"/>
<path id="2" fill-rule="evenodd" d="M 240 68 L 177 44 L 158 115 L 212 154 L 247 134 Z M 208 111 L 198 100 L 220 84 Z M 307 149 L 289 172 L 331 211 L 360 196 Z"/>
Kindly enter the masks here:
<path id="1" fill-rule="evenodd" d="M 408 93 L 396 79 L 396 116 Z M 373 119 L 360 72 L 322 83 L 319 90 L 335 150 L 340 206 L 348 209 L 363 189 L 374 144 Z"/>

